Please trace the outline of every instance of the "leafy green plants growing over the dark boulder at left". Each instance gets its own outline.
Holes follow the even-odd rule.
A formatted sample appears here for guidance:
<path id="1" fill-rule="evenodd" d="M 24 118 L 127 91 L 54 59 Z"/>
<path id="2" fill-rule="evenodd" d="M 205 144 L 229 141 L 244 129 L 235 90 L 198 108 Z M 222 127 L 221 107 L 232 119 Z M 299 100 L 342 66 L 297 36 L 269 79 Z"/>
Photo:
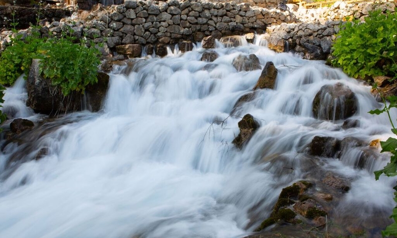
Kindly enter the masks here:
<path id="1" fill-rule="evenodd" d="M 87 84 L 97 82 L 99 54 L 95 47 L 87 47 L 84 41 L 75 44 L 65 35 L 48 39 L 39 34 L 24 39 L 18 36 L 1 54 L 0 84 L 12 85 L 22 73 L 28 75 L 32 59 L 41 59 L 40 73 L 53 85 L 61 86 L 65 96 L 71 91 L 84 91 Z"/>

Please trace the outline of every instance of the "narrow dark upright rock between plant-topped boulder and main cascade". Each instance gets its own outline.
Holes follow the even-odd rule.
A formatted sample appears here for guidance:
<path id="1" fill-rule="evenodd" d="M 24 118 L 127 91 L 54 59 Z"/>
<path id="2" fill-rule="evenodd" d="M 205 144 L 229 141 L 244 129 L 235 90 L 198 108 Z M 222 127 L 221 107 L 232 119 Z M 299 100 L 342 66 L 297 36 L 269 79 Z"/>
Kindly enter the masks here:
<path id="1" fill-rule="evenodd" d="M 91 112 L 98 112 L 106 96 L 109 85 L 109 75 L 103 72 L 98 72 L 98 82 L 96 84 L 88 84 L 85 88 L 87 105 Z"/>

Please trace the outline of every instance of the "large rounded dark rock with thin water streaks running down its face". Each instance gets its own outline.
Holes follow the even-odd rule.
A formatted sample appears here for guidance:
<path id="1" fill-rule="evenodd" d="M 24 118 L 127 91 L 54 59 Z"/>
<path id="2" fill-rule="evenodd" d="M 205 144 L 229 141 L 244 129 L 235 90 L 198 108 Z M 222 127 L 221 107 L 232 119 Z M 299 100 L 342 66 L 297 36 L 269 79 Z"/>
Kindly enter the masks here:
<path id="1" fill-rule="evenodd" d="M 324 85 L 313 100 L 313 114 L 317 119 L 339 120 L 353 116 L 357 111 L 357 98 L 342 83 Z"/>

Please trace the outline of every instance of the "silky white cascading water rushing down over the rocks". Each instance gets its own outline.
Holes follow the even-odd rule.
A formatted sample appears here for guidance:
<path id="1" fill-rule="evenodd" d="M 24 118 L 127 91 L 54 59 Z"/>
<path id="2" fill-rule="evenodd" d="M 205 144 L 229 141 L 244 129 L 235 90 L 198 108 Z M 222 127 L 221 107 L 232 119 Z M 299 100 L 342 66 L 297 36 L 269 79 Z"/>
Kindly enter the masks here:
<path id="1" fill-rule="evenodd" d="M 372 173 L 387 155 L 357 166 L 360 147 L 339 159 L 307 154 L 316 135 L 366 142 L 392 135 L 386 117 L 367 113 L 380 106 L 368 86 L 322 61 L 262 46 L 215 51 L 213 62 L 199 61 L 199 45 L 183 55 L 137 60 L 111 74 L 101 113 L 31 117 L 36 129 L 26 132 L 29 146 L 3 141 L 0 237 L 243 237 L 269 216 L 283 187 L 325 172 L 351 182 L 330 219 L 365 226 L 369 217 L 382 216 L 389 222 L 394 180 L 375 181 Z M 255 54 L 262 67 L 272 61 L 278 76 L 274 90 L 258 90 L 233 109 L 261 75 L 237 72 L 232 61 L 240 54 Z M 360 121 L 357 127 L 313 116 L 317 92 L 337 82 L 355 93 L 350 119 Z M 21 88 L 7 89 L 6 97 Z M 4 107 L 10 102 L 6 98 Z M 261 126 L 239 150 L 231 142 L 247 113 Z M 47 153 L 34 159 L 42 148 Z"/>

